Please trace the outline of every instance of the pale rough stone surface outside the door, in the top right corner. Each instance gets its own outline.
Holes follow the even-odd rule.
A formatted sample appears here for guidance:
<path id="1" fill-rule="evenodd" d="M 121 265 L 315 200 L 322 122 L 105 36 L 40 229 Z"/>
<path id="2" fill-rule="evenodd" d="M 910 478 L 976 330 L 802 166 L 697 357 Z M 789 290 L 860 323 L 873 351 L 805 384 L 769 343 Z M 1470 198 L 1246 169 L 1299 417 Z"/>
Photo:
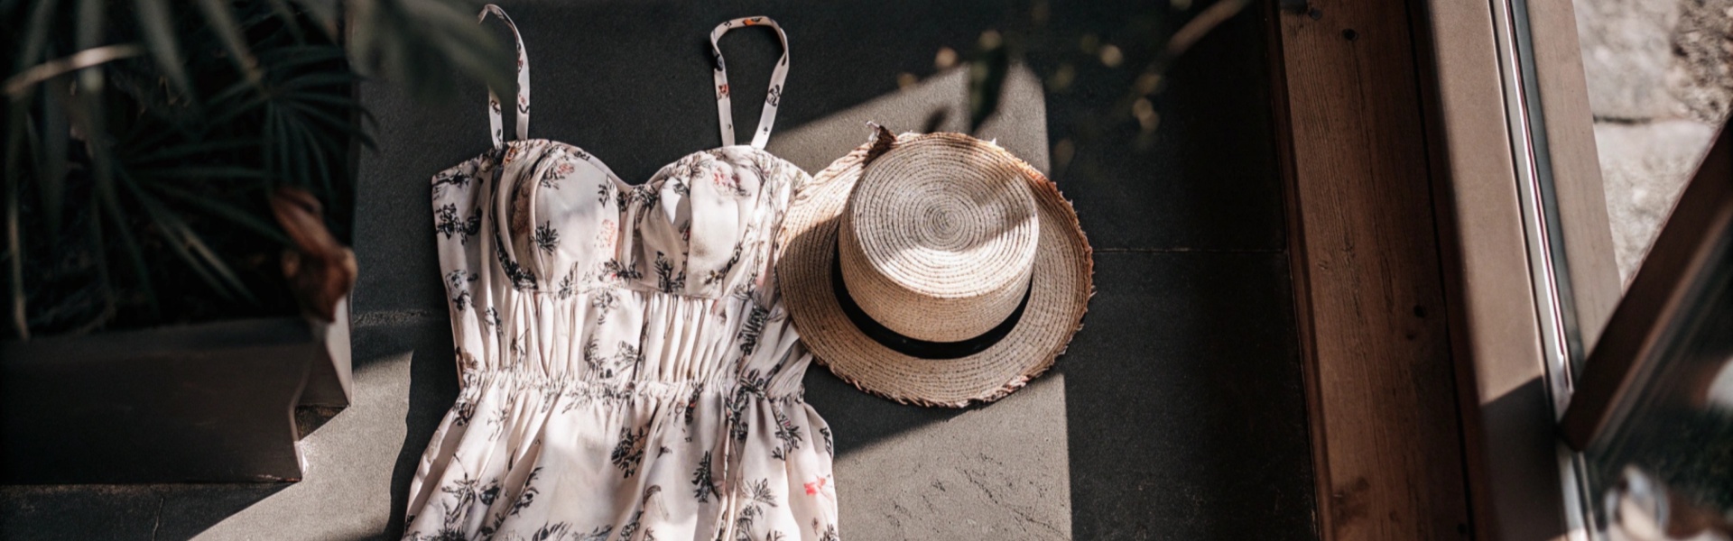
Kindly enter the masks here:
<path id="1" fill-rule="evenodd" d="M 1574 0 L 1619 276 L 1629 284 L 1733 101 L 1733 2 Z"/>

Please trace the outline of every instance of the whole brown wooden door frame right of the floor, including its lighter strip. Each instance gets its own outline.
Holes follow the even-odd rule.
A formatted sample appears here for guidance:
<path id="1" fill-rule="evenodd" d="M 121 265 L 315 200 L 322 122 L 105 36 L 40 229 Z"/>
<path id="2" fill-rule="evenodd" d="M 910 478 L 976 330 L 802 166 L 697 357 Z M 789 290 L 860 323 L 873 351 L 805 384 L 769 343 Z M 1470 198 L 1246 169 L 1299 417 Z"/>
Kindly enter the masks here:
<path id="1" fill-rule="evenodd" d="M 1520 14 L 1546 120 L 1529 156 L 1504 108 L 1509 2 L 1267 9 L 1321 538 L 1563 538 L 1516 160 L 1558 179 L 1582 343 L 1620 295 L 1570 3 Z"/>

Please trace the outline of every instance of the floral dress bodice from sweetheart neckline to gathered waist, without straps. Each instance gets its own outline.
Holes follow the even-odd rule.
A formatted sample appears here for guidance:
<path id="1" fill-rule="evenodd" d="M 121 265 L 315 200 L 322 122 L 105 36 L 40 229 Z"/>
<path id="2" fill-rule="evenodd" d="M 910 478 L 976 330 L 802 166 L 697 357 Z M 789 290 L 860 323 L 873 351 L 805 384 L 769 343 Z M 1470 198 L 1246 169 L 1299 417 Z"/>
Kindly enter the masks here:
<path id="1" fill-rule="evenodd" d="M 804 177 L 737 146 L 629 186 L 549 140 L 442 172 L 433 213 L 459 364 L 591 383 L 731 380 L 712 361 L 756 350 L 771 309 L 787 326 L 766 277 Z"/>

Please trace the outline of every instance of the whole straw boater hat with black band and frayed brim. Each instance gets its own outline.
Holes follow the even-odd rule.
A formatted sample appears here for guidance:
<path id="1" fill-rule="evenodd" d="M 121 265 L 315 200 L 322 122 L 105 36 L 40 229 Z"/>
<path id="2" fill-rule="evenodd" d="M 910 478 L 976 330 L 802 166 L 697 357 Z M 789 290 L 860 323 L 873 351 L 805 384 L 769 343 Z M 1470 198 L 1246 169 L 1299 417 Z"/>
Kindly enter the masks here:
<path id="1" fill-rule="evenodd" d="M 1088 309 L 1076 212 L 996 144 L 875 130 L 783 218 L 776 274 L 801 340 L 842 380 L 905 404 L 1021 388 Z"/>

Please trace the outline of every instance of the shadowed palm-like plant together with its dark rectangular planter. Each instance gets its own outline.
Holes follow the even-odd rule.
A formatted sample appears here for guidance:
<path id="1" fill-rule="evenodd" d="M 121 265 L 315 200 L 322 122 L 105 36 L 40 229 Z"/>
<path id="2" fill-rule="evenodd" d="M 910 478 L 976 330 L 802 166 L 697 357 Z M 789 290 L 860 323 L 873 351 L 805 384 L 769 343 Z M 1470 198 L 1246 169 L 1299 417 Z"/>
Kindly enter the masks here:
<path id="1" fill-rule="evenodd" d="M 0 2 L 0 482 L 295 480 L 350 397 L 355 83 L 510 85 L 456 0 Z"/>

